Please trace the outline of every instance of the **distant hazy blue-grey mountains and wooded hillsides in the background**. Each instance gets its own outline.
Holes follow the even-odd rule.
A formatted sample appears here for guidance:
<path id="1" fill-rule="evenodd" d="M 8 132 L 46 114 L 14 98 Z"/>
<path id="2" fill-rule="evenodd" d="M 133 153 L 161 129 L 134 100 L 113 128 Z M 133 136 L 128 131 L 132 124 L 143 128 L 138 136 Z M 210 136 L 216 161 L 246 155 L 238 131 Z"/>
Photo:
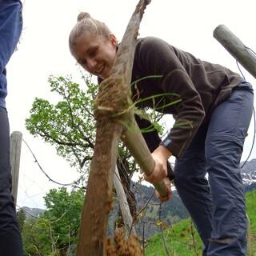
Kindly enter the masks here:
<path id="1" fill-rule="evenodd" d="M 243 165 L 243 162 L 241 163 Z M 242 178 L 245 184 L 245 190 L 250 191 L 256 188 L 256 159 L 252 159 L 242 168 Z M 144 208 L 146 202 L 148 202 L 150 195 L 153 193 L 153 187 L 142 186 L 139 183 L 132 183 L 131 189 L 134 191 L 135 198 L 137 200 L 137 211 Z M 38 208 L 22 207 L 26 212 L 26 218 L 32 216 L 40 216 L 44 210 Z M 159 217 L 165 226 L 171 226 L 182 219 L 188 218 L 189 214 L 183 206 L 176 191 L 173 193 L 172 200 L 162 203 L 161 214 L 159 215 L 159 201 L 155 196 L 150 199 L 150 202 L 146 206 L 145 210 L 139 215 L 136 222 L 135 229 L 138 235 L 142 236 L 144 233 L 145 238 L 150 238 L 153 234 L 159 232 Z M 118 203 L 114 210 L 110 213 L 108 234 L 114 233 L 114 222 L 118 216 Z"/>

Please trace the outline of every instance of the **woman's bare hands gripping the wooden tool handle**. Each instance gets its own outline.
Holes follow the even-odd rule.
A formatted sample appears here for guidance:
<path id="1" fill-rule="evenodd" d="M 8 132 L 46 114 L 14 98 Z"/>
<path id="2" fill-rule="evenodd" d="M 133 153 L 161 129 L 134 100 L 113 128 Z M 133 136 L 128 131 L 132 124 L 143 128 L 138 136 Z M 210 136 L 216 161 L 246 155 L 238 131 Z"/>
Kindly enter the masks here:
<path id="1" fill-rule="evenodd" d="M 161 182 L 162 180 L 166 184 L 168 195 L 165 198 L 160 197 L 157 193 L 158 198 L 164 202 L 171 198 L 170 180 L 167 176 L 167 160 L 170 158 L 171 153 L 164 146 L 158 146 L 156 150 L 151 154 L 154 159 L 155 165 L 154 170 L 150 175 L 144 174 L 144 179 L 152 184 Z"/>

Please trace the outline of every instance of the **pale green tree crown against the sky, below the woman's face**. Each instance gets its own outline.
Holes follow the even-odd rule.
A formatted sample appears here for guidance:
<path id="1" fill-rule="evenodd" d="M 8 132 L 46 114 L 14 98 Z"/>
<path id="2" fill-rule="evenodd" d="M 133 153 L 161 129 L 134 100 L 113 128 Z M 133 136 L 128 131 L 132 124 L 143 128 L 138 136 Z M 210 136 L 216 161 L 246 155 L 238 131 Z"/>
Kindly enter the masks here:
<path id="1" fill-rule="evenodd" d="M 78 170 L 89 166 L 94 150 L 95 121 L 93 114 L 97 86 L 84 78 L 84 90 L 70 77 L 49 78 L 50 90 L 61 100 L 56 104 L 35 98 L 26 118 L 26 129 L 34 137 L 54 145 L 57 153 Z"/>

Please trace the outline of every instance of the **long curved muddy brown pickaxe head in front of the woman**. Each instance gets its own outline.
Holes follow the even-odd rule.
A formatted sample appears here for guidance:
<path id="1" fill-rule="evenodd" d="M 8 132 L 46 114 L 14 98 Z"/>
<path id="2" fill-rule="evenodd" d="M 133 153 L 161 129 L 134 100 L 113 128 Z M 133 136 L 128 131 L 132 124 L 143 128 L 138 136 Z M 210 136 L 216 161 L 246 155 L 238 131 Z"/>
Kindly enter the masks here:
<path id="1" fill-rule="evenodd" d="M 112 108 L 104 103 L 115 103 L 110 98 L 114 96 L 116 99 L 115 89 L 121 90 L 123 94 L 128 92 L 122 89 L 124 85 L 130 85 L 138 28 L 149 3 L 150 0 L 138 2 L 118 48 L 110 78 L 105 79 L 99 87 L 96 102 L 98 107 L 95 110 L 97 122 L 94 156 L 90 166 L 76 256 L 106 255 L 106 227 L 108 214 L 113 207 L 112 186 L 123 126 L 118 120 L 110 118 L 107 112 Z M 104 95 L 105 98 L 102 97 Z"/>

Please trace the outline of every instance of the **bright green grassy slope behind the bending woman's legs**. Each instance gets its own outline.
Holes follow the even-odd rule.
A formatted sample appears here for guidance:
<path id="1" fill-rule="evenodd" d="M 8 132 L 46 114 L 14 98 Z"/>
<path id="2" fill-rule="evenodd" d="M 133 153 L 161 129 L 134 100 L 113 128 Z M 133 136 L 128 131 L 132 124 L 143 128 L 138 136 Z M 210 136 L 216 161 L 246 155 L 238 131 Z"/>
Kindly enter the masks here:
<path id="1" fill-rule="evenodd" d="M 256 190 L 246 193 L 246 207 L 248 217 L 250 218 L 250 228 L 248 232 L 248 246 L 250 246 L 250 250 L 248 250 L 248 255 L 253 256 L 256 255 Z M 201 255 L 202 242 L 198 238 L 198 234 L 195 232 L 194 227 L 192 230 L 194 232 L 191 232 L 190 219 L 182 220 L 174 226 L 164 230 L 164 237 L 166 239 L 169 254 L 166 254 L 161 232 L 159 234 L 155 234 L 148 240 L 145 255 Z M 194 238 L 192 234 L 194 234 Z"/>

